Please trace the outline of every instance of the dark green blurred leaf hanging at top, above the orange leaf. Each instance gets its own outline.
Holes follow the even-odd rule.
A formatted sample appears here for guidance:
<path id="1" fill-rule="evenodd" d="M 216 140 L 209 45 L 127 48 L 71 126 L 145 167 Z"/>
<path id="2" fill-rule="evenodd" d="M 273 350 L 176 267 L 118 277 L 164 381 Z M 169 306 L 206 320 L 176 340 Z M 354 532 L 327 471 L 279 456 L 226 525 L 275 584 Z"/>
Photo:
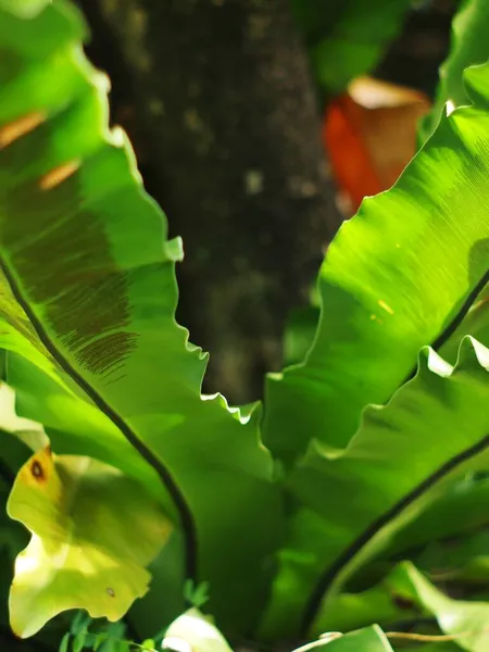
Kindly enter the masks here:
<path id="1" fill-rule="evenodd" d="M 323 90 L 337 93 L 372 71 L 402 27 L 411 0 L 293 0 L 296 20 L 310 48 Z"/>

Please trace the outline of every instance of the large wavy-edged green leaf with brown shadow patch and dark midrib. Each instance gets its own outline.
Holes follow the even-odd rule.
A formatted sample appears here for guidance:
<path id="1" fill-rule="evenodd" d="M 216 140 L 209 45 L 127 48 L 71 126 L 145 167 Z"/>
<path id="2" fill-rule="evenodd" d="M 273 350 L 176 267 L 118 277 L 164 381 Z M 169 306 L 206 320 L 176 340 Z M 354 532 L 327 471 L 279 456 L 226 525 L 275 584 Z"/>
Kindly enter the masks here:
<path id="1" fill-rule="evenodd" d="M 62 0 L 30 18 L 16 8 L 0 0 L 0 267 L 30 323 L 16 328 L 7 302 L 20 413 L 57 452 L 156 479 L 179 513 L 186 574 L 211 582 L 223 626 L 248 626 L 281 529 L 256 418 L 201 399 L 205 358 L 174 318 L 181 247 L 108 128 L 78 13 Z"/>

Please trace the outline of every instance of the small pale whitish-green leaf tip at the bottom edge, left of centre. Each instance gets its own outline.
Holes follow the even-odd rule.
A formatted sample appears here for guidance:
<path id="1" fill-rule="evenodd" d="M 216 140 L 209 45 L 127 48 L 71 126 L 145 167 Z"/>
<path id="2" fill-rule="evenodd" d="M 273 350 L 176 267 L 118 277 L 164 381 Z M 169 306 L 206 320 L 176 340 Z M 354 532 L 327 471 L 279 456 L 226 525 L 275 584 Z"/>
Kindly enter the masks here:
<path id="1" fill-rule="evenodd" d="M 218 629 L 197 609 L 179 616 L 168 627 L 163 639 L 163 650 L 192 652 L 233 652 Z"/>

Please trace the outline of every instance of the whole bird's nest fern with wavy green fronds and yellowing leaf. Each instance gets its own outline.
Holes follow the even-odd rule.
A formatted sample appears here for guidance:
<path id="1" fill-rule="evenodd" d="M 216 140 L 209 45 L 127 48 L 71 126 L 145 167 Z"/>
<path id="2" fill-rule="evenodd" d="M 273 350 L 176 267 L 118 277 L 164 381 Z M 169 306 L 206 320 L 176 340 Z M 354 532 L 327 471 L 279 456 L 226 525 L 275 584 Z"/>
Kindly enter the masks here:
<path id="1" fill-rule="evenodd" d="M 489 64 L 329 246 L 304 360 L 238 409 L 201 396 L 181 243 L 109 128 L 85 36 L 65 0 L 0 0 L 15 635 L 78 610 L 63 651 L 489 649 Z"/>

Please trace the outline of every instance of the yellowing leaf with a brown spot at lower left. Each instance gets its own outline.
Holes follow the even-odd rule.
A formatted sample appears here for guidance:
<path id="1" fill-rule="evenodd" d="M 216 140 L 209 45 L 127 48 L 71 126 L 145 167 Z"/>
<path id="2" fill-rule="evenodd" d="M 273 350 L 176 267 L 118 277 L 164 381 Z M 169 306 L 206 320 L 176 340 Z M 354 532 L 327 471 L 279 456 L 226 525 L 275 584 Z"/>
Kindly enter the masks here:
<path id="1" fill-rule="evenodd" d="M 12 629 L 22 638 L 70 609 L 121 618 L 148 590 L 146 566 L 172 528 L 120 471 L 88 457 L 57 457 L 49 449 L 18 473 L 8 512 L 33 534 L 15 562 L 10 593 Z"/>

